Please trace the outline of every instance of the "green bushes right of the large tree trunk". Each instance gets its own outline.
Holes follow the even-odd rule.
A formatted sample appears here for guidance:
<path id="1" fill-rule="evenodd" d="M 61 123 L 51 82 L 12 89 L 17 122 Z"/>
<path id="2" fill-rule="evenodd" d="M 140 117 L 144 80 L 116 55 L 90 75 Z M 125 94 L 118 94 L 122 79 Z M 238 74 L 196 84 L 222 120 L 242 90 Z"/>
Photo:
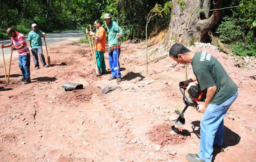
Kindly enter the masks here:
<path id="1" fill-rule="evenodd" d="M 232 53 L 238 56 L 256 56 L 256 0 L 234 0 L 232 6 L 240 7 L 229 11 L 222 18 L 216 33 L 221 41 L 228 44 Z"/>

